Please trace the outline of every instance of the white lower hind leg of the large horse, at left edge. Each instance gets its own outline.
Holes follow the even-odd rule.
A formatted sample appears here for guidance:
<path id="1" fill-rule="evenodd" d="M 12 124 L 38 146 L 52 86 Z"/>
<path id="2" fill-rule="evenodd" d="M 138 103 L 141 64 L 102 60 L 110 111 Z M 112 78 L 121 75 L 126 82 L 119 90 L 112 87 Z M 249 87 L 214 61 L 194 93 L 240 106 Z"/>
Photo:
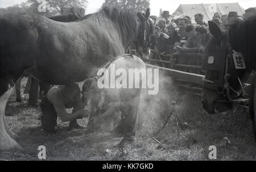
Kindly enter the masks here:
<path id="1" fill-rule="evenodd" d="M 21 148 L 20 145 L 13 138 L 11 138 L 5 130 L 5 127 L 8 128 L 8 126 L 5 126 L 5 107 L 12 91 L 13 88 L 9 87 L 7 92 L 0 96 L 0 150 Z"/>

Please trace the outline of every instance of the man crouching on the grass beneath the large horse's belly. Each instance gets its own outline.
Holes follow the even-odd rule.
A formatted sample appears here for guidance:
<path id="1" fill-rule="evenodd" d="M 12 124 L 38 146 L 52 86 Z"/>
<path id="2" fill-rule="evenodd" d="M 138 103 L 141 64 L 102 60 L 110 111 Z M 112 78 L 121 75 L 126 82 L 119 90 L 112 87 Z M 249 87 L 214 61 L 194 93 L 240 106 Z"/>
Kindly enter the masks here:
<path id="1" fill-rule="evenodd" d="M 75 83 L 49 89 L 40 102 L 40 108 L 43 130 L 53 133 L 57 130 L 57 117 L 63 122 L 70 121 L 70 128 L 82 129 L 85 127 L 80 126 L 77 119 L 89 115 L 89 111 L 82 104 L 80 88 Z M 66 109 L 70 108 L 73 108 L 73 113 L 67 113 Z"/>

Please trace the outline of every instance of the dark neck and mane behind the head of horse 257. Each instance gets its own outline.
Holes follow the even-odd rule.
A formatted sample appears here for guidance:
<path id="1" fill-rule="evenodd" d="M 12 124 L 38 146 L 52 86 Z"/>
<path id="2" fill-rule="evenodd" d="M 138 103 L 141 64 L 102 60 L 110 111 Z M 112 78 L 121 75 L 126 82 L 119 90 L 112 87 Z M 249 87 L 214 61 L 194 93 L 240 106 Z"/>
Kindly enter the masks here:
<path id="1" fill-rule="evenodd" d="M 256 16 L 233 24 L 229 29 L 232 48 L 242 52 L 245 63 L 256 69 Z"/>

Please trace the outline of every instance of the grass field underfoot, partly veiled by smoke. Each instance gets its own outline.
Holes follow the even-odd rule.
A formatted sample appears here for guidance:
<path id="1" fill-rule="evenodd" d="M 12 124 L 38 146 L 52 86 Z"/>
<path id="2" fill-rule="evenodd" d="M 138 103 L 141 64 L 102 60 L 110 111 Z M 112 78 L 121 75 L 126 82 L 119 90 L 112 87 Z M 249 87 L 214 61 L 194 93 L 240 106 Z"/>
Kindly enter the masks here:
<path id="1" fill-rule="evenodd" d="M 200 98 L 164 83 L 168 98 L 164 97 L 166 92 L 147 97 L 147 101 L 142 96 L 137 136 L 133 144 L 120 151 L 115 146 L 121 138 L 113 139 L 104 132 L 69 131 L 67 122 L 58 121 L 57 134 L 46 134 L 40 126 L 40 109 L 27 105 L 25 83 L 26 78 L 22 80 L 22 103 L 15 102 L 13 93 L 6 108 L 9 127 L 18 134 L 23 150 L 2 151 L 0 160 L 38 160 L 39 145 L 46 146 L 46 160 L 209 160 L 210 145 L 217 148 L 217 160 L 256 160 L 256 144 L 246 109 L 208 115 L 201 108 Z M 162 132 L 155 134 L 173 108 L 167 103 L 169 100 L 178 100 L 175 109 L 187 127 L 178 134 L 175 118 L 171 117 Z M 80 119 L 79 123 L 86 125 L 87 120 Z M 230 144 L 225 143 L 224 137 Z"/>

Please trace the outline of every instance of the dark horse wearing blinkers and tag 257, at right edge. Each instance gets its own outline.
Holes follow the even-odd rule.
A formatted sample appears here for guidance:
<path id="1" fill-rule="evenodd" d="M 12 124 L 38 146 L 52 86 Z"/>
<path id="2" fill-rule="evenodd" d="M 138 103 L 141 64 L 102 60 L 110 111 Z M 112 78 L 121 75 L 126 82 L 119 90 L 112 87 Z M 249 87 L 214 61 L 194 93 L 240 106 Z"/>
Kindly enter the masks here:
<path id="1" fill-rule="evenodd" d="M 232 109 L 232 102 L 243 94 L 243 84 L 256 70 L 256 17 L 230 26 L 222 32 L 208 21 L 213 38 L 205 50 L 203 69 L 203 108 L 209 113 Z M 256 77 L 251 83 L 250 115 L 256 139 Z"/>

